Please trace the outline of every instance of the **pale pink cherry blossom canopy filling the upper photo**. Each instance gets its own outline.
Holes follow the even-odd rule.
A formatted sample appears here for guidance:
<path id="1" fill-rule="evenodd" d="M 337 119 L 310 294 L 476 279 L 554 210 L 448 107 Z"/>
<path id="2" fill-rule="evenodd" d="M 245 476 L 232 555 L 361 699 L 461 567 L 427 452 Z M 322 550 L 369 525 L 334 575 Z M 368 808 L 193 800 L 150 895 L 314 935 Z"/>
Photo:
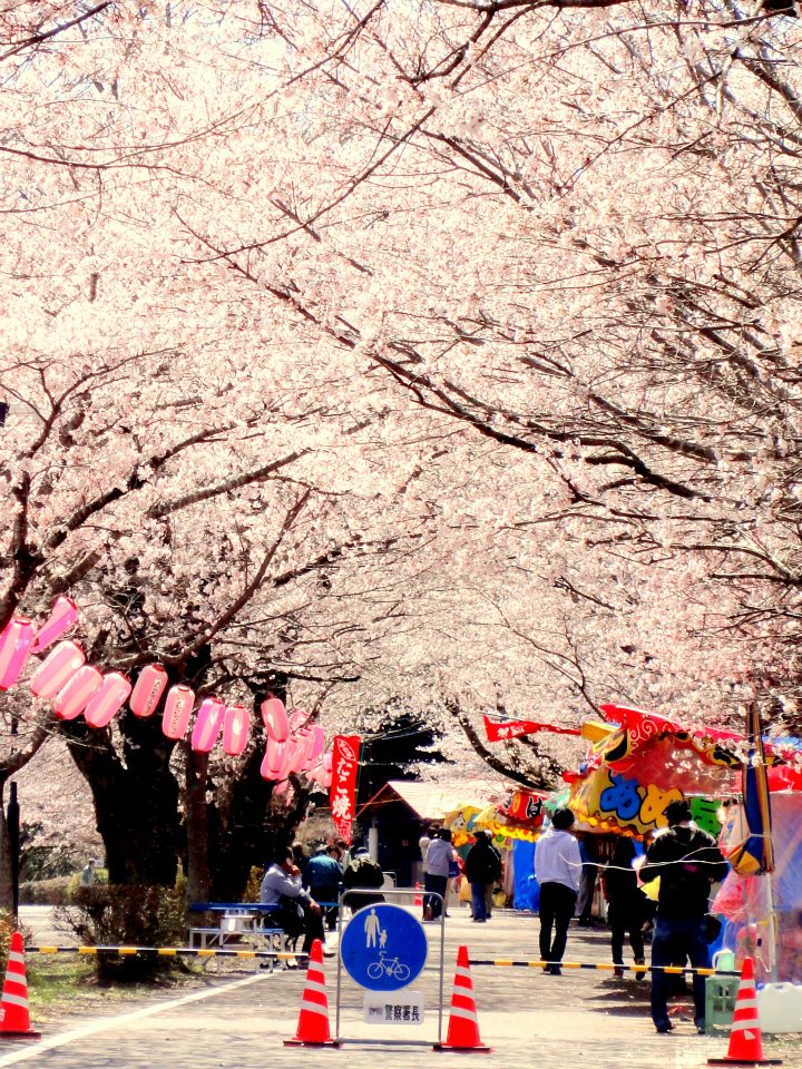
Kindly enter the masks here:
<path id="1" fill-rule="evenodd" d="M 4 6 L 0 621 L 527 782 L 499 700 L 793 724 L 798 21 Z"/>

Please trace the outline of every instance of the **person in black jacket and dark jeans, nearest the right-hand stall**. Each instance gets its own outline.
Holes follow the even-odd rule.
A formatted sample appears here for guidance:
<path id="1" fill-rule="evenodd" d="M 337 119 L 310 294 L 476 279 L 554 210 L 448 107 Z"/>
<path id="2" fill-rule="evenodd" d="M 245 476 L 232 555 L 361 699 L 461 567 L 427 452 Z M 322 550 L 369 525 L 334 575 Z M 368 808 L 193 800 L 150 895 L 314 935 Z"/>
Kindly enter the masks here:
<path id="1" fill-rule="evenodd" d="M 694 970 L 710 967 L 707 901 L 711 884 L 727 873 L 718 844 L 692 824 L 691 805 L 678 800 L 666 806 L 668 831 L 654 841 L 640 869 L 644 883 L 661 877 L 652 936 L 652 1020 L 658 1032 L 669 1032 L 668 977 L 663 967 L 685 959 Z M 705 1030 L 705 978 L 693 974 L 694 1023 Z"/>

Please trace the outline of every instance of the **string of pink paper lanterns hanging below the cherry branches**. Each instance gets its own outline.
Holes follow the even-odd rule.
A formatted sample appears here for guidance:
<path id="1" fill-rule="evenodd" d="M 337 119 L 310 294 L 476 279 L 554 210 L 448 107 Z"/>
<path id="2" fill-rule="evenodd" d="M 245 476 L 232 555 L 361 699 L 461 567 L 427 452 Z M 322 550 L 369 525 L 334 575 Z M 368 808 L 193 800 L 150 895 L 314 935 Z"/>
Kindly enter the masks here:
<path id="1" fill-rule="evenodd" d="M 167 689 L 169 680 L 162 665 L 146 665 L 131 687 L 123 673 L 104 674 L 86 664 L 79 643 L 59 641 L 77 619 L 78 607 L 65 596 L 56 599 L 41 627 L 25 617 L 14 617 L 0 634 L 0 690 L 8 690 L 20 679 L 31 656 L 52 647 L 33 671 L 29 687 L 36 697 L 52 704 L 58 719 L 71 720 L 82 714 L 90 727 L 106 727 L 126 702 L 135 716 L 153 716 L 166 690 L 162 729 L 167 738 L 185 738 L 195 708 L 195 692 L 185 684 Z M 284 781 L 291 772 L 304 773 L 321 787 L 330 787 L 332 754 L 326 752 L 323 729 L 309 724 L 311 714 L 305 709 L 288 714 L 280 698 L 267 698 L 260 712 L 267 732 L 262 776 Z M 226 705 L 221 698 L 205 697 L 195 710 L 189 745 L 199 753 L 211 753 L 222 738 L 224 752 L 237 757 L 247 745 L 250 730 L 251 714 L 244 705 Z"/>

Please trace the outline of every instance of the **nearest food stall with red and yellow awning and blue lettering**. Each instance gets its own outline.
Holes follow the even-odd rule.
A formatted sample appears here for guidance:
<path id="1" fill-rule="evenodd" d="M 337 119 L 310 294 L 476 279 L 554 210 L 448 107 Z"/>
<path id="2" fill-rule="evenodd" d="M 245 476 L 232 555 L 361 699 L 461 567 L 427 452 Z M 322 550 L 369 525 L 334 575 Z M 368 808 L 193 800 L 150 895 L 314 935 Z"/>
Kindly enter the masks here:
<path id="1" fill-rule="evenodd" d="M 674 798 L 720 837 L 733 869 L 713 901 L 725 920 L 723 947 L 755 959 L 759 977 L 802 980 L 802 751 L 795 739 L 764 743 L 616 705 L 583 735 L 587 761 L 569 805 L 590 826 L 648 837 Z M 773 846 L 773 850 L 772 850 Z"/>

